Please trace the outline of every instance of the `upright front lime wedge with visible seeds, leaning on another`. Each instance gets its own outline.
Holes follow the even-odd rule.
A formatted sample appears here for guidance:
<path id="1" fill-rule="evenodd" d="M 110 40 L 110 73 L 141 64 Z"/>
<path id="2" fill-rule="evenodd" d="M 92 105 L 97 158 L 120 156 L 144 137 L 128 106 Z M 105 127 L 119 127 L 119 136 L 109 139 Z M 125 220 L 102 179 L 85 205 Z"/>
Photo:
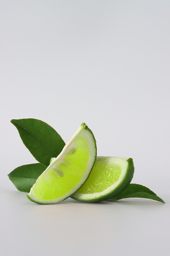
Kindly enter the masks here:
<path id="1" fill-rule="evenodd" d="M 39 176 L 28 198 L 38 204 L 56 204 L 75 193 L 87 180 L 96 160 L 96 140 L 82 123 L 57 158 Z"/>

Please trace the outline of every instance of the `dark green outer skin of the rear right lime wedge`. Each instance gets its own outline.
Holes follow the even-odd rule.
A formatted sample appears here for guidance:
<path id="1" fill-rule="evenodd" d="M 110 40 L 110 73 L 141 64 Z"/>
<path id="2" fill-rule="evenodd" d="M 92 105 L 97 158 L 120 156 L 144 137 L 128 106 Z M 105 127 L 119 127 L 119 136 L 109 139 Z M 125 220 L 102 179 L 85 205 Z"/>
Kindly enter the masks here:
<path id="1" fill-rule="evenodd" d="M 121 182 L 118 184 L 118 186 L 111 192 L 105 195 L 101 195 L 99 197 L 95 197 L 93 199 L 79 199 L 76 197 L 76 193 L 74 193 L 71 198 L 81 201 L 81 202 L 100 202 L 100 201 L 105 201 L 108 200 L 118 194 L 120 194 L 131 182 L 134 174 L 134 164 L 133 164 L 133 159 L 128 158 L 127 159 L 128 165 L 127 165 L 127 172 L 124 178 L 121 180 Z"/>

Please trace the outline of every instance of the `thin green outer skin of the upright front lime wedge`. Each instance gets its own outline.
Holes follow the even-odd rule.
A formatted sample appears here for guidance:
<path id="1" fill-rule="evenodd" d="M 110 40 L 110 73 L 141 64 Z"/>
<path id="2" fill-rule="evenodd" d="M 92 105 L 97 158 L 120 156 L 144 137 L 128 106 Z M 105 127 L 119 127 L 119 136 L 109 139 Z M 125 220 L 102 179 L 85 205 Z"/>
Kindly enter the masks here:
<path id="1" fill-rule="evenodd" d="M 90 173 L 91 173 L 91 171 L 92 171 L 92 169 L 93 169 L 93 166 L 94 166 L 94 163 L 95 163 L 95 160 L 96 160 L 96 157 L 97 157 L 97 146 L 96 146 L 96 139 L 95 139 L 95 137 L 94 137 L 93 132 L 88 128 L 88 126 L 87 126 L 85 123 L 82 123 L 81 126 L 82 126 L 84 129 L 88 130 L 88 132 L 91 133 L 92 139 L 93 139 L 93 141 L 94 141 L 94 149 L 95 149 L 94 161 L 93 161 L 93 163 L 92 163 L 91 169 L 89 169 L 89 173 L 88 173 L 88 175 L 87 175 L 87 178 L 84 179 L 84 181 L 83 181 L 83 184 L 84 184 L 84 183 L 87 181 L 87 179 L 89 178 Z M 83 184 L 81 184 L 80 187 L 82 187 Z M 74 193 L 76 193 L 76 192 L 80 189 L 80 187 L 78 187 L 77 190 L 74 191 Z M 74 193 L 73 193 L 73 194 L 74 194 Z M 71 197 L 71 195 L 72 195 L 72 194 L 69 194 L 69 195 L 67 194 L 66 197 L 65 197 L 63 200 L 58 201 L 57 203 L 60 203 L 60 202 L 62 202 L 62 201 L 64 201 L 64 200 L 66 200 L 67 198 Z M 36 201 L 36 200 L 33 200 L 29 195 L 27 195 L 27 197 L 28 197 L 28 199 L 29 199 L 30 201 L 32 201 L 32 202 L 34 202 L 34 203 L 37 203 L 37 204 L 43 204 L 43 205 L 45 205 L 45 204 L 54 204 L 54 203 L 51 203 L 50 200 L 49 200 L 48 203 L 44 203 L 43 200 L 42 200 L 42 202 L 38 202 L 38 201 Z M 56 203 L 56 204 L 57 204 L 57 203 Z"/>

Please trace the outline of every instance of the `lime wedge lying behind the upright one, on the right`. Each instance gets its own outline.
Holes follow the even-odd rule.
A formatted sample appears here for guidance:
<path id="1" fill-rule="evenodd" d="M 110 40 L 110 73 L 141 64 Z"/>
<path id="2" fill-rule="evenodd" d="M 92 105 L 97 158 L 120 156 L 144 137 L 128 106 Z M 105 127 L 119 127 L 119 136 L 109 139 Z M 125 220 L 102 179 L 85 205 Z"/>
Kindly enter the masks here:
<path id="1" fill-rule="evenodd" d="M 129 185 L 133 173 L 132 158 L 97 156 L 88 180 L 71 197 L 84 202 L 110 199 Z"/>

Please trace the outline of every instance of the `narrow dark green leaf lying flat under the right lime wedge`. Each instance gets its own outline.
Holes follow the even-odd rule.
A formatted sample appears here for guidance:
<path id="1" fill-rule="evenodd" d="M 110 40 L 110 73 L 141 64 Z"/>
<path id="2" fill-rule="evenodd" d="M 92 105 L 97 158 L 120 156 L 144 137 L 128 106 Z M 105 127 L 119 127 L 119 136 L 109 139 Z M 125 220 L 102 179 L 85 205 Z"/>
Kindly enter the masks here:
<path id="1" fill-rule="evenodd" d="M 156 196 L 154 192 L 149 190 L 148 188 L 139 185 L 139 184 L 129 184 L 127 188 L 122 191 L 119 195 L 108 199 L 107 201 L 115 202 L 117 200 L 123 199 L 123 198 L 148 198 L 155 201 L 159 201 L 164 203 L 164 201 Z"/>

